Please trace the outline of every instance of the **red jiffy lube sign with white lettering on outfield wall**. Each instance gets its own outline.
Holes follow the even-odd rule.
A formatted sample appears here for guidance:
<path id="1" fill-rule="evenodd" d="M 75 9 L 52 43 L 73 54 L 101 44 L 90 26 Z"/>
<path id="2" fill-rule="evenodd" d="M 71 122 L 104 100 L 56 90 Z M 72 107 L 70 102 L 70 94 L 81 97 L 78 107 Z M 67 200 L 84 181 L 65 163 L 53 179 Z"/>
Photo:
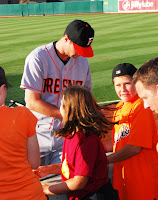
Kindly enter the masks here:
<path id="1" fill-rule="evenodd" d="M 158 10 L 157 0 L 119 0 L 119 11 L 154 11 Z"/>

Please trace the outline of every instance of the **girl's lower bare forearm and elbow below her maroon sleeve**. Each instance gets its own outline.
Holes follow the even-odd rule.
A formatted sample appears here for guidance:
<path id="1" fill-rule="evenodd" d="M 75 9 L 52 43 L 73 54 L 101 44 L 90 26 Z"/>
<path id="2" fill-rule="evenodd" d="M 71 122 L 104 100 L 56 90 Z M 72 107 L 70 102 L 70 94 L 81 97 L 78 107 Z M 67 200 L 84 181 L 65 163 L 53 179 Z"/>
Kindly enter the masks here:
<path id="1" fill-rule="evenodd" d="M 69 180 L 66 180 L 62 183 L 48 186 L 43 184 L 43 191 L 47 195 L 58 195 L 58 194 L 67 194 L 70 191 L 82 190 L 87 182 L 89 177 L 87 176 L 74 176 Z"/>

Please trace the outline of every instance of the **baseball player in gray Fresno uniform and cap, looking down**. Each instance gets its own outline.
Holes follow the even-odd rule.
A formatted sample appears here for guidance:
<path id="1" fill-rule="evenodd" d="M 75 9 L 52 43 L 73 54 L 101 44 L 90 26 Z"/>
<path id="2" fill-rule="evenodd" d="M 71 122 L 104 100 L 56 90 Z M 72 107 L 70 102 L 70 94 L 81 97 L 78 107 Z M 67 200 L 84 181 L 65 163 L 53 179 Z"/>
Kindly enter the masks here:
<path id="1" fill-rule="evenodd" d="M 36 127 L 41 165 L 61 162 L 63 139 L 54 131 L 61 128 L 60 100 L 70 85 L 92 88 L 88 60 L 93 57 L 93 28 L 74 20 L 59 41 L 40 46 L 26 58 L 21 88 L 25 90 L 26 106 L 38 118 Z"/>

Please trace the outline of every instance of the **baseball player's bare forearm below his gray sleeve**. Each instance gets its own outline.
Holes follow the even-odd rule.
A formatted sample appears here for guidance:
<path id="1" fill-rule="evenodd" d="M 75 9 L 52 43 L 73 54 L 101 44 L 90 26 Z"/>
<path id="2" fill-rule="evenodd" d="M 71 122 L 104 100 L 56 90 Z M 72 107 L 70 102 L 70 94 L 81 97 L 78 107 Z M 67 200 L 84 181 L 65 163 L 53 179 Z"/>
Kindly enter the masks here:
<path id="1" fill-rule="evenodd" d="M 29 89 L 25 89 L 26 105 L 30 110 L 39 112 L 41 114 L 61 119 L 60 109 L 40 98 L 40 94 Z"/>

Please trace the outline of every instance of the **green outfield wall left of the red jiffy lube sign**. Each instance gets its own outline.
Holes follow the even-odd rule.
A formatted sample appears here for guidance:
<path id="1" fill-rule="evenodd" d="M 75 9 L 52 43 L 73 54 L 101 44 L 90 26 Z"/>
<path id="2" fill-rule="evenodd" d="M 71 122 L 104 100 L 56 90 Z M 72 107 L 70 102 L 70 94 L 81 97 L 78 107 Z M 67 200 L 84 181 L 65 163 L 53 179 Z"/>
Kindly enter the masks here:
<path id="1" fill-rule="evenodd" d="M 117 0 L 1 4 L 0 16 L 117 12 Z"/>

